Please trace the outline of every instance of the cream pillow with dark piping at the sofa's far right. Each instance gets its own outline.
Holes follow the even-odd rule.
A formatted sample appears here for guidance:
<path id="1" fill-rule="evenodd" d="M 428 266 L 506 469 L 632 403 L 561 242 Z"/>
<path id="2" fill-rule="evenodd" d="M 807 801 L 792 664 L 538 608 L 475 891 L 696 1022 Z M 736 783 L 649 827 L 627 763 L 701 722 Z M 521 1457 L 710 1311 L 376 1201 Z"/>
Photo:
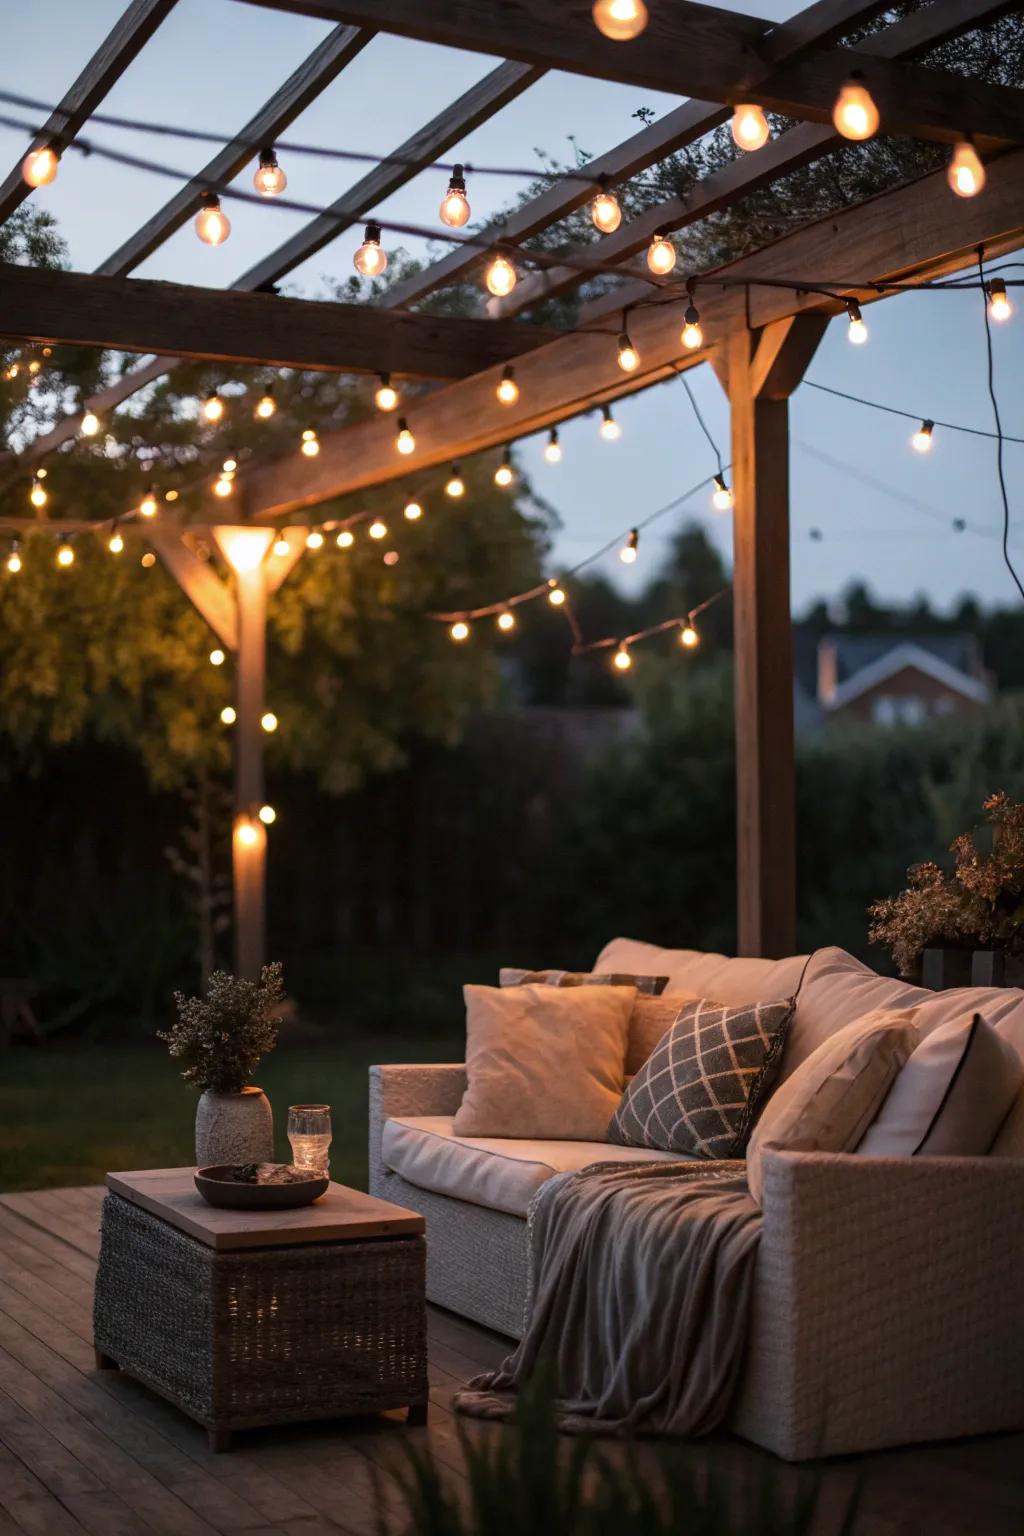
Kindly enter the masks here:
<path id="1" fill-rule="evenodd" d="M 892 1084 L 864 1157 L 983 1157 L 1024 1083 L 1024 1063 L 981 1014 L 940 1025 Z"/>

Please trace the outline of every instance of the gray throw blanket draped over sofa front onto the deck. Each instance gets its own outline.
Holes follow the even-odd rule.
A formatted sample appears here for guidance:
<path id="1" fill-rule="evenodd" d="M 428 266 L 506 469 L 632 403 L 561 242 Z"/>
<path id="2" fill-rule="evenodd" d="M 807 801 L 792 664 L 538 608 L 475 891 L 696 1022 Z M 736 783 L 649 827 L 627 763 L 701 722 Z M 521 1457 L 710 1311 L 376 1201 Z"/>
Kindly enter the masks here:
<path id="1" fill-rule="evenodd" d="M 530 1209 L 527 1332 L 456 1407 L 507 1418 L 540 1364 L 567 1430 L 706 1435 L 743 1364 L 761 1213 L 743 1163 L 596 1163 Z"/>

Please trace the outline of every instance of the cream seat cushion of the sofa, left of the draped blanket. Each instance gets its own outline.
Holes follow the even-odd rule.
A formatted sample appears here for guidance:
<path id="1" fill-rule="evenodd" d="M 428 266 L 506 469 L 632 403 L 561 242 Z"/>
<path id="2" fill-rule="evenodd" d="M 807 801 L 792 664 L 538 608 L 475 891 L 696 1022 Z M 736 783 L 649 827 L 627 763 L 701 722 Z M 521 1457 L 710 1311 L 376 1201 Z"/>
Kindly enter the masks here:
<path id="1" fill-rule="evenodd" d="M 387 1120 L 385 1167 L 418 1189 L 468 1200 L 490 1210 L 525 1217 L 530 1201 L 556 1174 L 591 1163 L 686 1163 L 680 1154 L 617 1147 L 606 1141 L 514 1141 L 507 1137 L 456 1137 L 451 1115 Z"/>

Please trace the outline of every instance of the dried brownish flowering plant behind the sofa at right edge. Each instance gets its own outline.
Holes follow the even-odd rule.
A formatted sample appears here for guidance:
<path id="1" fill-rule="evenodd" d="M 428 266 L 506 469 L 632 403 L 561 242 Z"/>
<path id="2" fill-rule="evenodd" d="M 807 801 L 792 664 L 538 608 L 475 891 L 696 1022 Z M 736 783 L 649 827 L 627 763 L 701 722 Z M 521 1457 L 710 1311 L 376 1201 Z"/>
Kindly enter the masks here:
<path id="1" fill-rule="evenodd" d="M 867 937 L 890 952 L 901 975 L 933 945 L 1024 955 L 1024 803 L 999 793 L 983 811 L 992 828 L 989 852 L 973 833 L 961 833 L 950 845 L 952 874 L 935 863 L 913 865 L 906 891 L 867 909 Z"/>

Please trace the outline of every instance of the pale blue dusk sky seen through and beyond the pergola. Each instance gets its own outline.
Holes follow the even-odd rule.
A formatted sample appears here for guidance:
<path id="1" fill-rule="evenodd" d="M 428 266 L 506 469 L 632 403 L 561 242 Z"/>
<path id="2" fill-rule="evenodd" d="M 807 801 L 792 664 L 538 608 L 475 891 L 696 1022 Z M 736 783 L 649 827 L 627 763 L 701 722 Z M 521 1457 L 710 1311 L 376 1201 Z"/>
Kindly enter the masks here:
<path id="1" fill-rule="evenodd" d="M 123 5 L 124 0 L 88 5 L 34 0 L 8 6 L 0 86 L 57 101 Z M 781 18 L 792 6 L 781 0 L 755 6 L 734 0 L 732 9 Z M 282 15 L 241 0 L 178 0 L 103 111 L 203 127 L 227 138 L 329 31 L 325 22 Z M 378 37 L 298 118 L 286 140 L 385 155 L 491 68 L 494 60 L 477 54 Z M 633 114 L 639 106 L 662 115 L 676 104 L 674 97 L 550 74 L 447 158 L 539 167 L 539 151 L 568 158 L 570 135 L 583 149 L 600 154 L 637 129 Z M 210 146 L 175 138 L 92 127 L 89 134 L 97 143 L 161 158 L 183 174 L 198 169 L 210 154 Z M 23 151 L 23 134 L 0 129 L 2 160 L 14 164 Z M 367 169 L 284 154 L 281 158 L 289 195 L 315 204 L 330 203 Z M 250 178 L 247 167 L 239 178 L 246 190 Z M 155 212 L 173 187 L 173 180 L 127 170 L 100 157 L 66 155 L 57 181 L 34 197 L 57 217 L 72 266 L 88 272 Z M 384 220 L 436 227 L 444 187 L 441 172 L 427 172 L 376 212 Z M 504 206 L 517 189 L 507 178 L 473 177 L 474 220 Z M 950 221 L 958 207 L 950 194 Z M 189 221 L 137 275 L 227 286 L 306 223 L 302 215 L 270 204 L 230 204 L 227 212 L 233 230 L 223 247 L 200 244 Z M 315 296 L 325 280 L 348 276 L 359 238 L 355 230 L 339 237 L 292 275 L 289 290 Z M 413 250 L 425 249 L 422 243 L 404 243 Z M 827 280 L 835 273 L 801 275 Z M 1024 436 L 1024 298 L 1016 301 L 1016 310 L 1009 324 L 995 327 L 996 384 L 1004 430 Z M 844 323 L 834 321 L 809 369 L 811 379 L 920 416 L 992 430 L 983 301 L 976 292 L 907 295 L 870 306 L 864 313 L 869 344 L 851 347 Z M 728 456 L 728 412 L 715 376 L 700 367 L 688 378 Z M 543 462 L 542 439 L 520 449 L 537 492 L 562 518 L 556 564 L 582 559 L 714 468 L 679 384 L 623 401 L 616 415 L 623 435 L 614 444 L 597 438 L 594 418 L 567 424 L 560 430 L 565 458 L 556 467 Z M 927 591 L 946 605 L 966 590 L 984 602 L 1015 599 L 999 554 L 995 442 L 940 429 L 933 452 L 920 456 L 909 447 L 913 422 L 806 387 L 792 401 L 791 424 L 797 610 L 818 594 L 834 596 L 854 576 L 897 601 Z M 1013 548 L 1024 564 L 1016 518 L 1024 492 L 1024 447 L 1010 444 L 1006 464 L 1015 515 Z M 706 495 L 694 501 L 692 511 L 728 551 L 728 515 L 711 511 Z M 606 561 L 608 573 L 619 581 L 643 581 L 662 539 L 683 518 L 666 518 L 651 530 L 642 544 L 643 559 L 631 573 L 614 554 Z M 953 518 L 964 518 L 969 531 L 953 533 Z M 820 542 L 812 541 L 812 528 L 821 530 Z"/>

